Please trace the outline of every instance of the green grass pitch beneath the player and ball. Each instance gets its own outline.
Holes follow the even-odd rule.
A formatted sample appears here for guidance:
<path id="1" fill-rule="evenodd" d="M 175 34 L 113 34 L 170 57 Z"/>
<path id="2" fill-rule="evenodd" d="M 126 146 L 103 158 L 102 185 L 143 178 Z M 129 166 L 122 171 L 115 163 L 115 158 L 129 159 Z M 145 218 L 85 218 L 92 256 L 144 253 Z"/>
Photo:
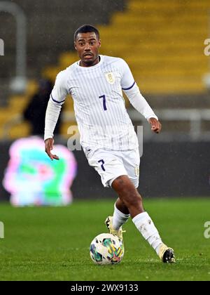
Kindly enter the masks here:
<path id="1" fill-rule="evenodd" d="M 210 199 L 152 199 L 144 205 L 162 240 L 176 251 L 176 264 L 161 263 L 130 220 L 125 255 L 118 265 L 94 265 L 89 246 L 106 232 L 114 200 L 80 201 L 67 207 L 0 205 L 0 280 L 210 280 Z"/>

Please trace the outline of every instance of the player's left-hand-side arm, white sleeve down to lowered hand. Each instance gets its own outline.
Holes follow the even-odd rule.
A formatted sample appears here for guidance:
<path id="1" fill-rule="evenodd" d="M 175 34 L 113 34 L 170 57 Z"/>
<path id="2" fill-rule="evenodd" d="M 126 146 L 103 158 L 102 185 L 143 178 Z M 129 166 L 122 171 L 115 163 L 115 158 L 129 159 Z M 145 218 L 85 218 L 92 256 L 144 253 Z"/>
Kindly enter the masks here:
<path id="1" fill-rule="evenodd" d="M 45 114 L 45 152 L 52 160 L 59 159 L 59 157 L 57 157 L 57 155 L 53 155 L 51 151 L 53 150 L 54 144 L 53 133 L 66 95 L 67 89 L 63 71 L 57 75 L 55 86 L 52 89 L 52 93 L 50 94 L 50 99 L 48 101 L 48 107 Z"/>

